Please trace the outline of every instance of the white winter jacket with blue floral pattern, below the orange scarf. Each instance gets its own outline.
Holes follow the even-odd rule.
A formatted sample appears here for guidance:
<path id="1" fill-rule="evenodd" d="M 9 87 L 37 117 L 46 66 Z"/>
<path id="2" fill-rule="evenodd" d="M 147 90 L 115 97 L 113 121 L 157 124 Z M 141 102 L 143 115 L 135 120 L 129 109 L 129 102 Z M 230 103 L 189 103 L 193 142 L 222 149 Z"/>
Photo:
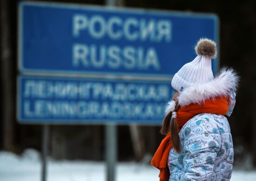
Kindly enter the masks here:
<path id="1" fill-rule="evenodd" d="M 197 114 L 179 135 L 182 153 L 170 150 L 169 181 L 229 181 L 234 151 L 225 116 Z"/>

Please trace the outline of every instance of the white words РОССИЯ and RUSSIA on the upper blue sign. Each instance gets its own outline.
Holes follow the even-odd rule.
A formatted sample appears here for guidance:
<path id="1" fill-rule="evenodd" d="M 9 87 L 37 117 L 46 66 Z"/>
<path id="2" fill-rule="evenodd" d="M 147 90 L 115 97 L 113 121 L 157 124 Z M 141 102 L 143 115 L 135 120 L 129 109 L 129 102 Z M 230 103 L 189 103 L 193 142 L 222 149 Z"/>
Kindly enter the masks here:
<path id="1" fill-rule="evenodd" d="M 73 17 L 74 38 L 87 34 L 97 40 L 108 38 L 112 41 L 124 39 L 141 43 L 170 43 L 172 24 L 169 20 L 136 19 L 117 16 L 104 18 L 101 15 L 88 17 L 75 14 Z M 103 41 L 104 42 L 104 41 Z M 100 46 L 86 43 L 73 45 L 73 66 L 110 69 L 124 68 L 126 70 L 160 71 L 161 65 L 154 46 L 119 46 L 116 44 Z"/>

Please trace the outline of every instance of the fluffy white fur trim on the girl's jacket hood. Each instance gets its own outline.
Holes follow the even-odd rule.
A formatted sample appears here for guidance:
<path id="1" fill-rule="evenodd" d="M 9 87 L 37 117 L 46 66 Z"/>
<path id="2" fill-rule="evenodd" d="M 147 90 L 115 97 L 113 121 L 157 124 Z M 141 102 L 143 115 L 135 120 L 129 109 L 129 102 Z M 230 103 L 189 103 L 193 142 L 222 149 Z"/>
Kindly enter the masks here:
<path id="1" fill-rule="evenodd" d="M 239 76 L 234 69 L 224 67 L 214 79 L 183 89 L 177 99 L 180 106 L 187 106 L 191 103 L 203 103 L 205 100 L 222 95 L 228 97 L 232 91 L 236 92 L 238 80 Z M 174 101 L 170 100 L 167 103 L 165 113 L 168 114 L 174 106 Z"/>

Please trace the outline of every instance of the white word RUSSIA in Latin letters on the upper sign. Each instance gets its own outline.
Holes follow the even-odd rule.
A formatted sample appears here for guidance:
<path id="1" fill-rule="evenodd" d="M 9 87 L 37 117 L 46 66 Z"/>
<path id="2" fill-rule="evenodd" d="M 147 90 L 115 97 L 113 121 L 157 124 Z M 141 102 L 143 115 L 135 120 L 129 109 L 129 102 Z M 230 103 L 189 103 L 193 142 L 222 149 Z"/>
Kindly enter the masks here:
<path id="1" fill-rule="evenodd" d="M 146 51 L 142 47 L 86 45 L 74 44 L 73 47 L 74 67 L 108 67 L 111 69 L 139 69 L 147 70 L 153 68 L 160 69 L 159 59 L 155 48 L 149 47 Z"/>

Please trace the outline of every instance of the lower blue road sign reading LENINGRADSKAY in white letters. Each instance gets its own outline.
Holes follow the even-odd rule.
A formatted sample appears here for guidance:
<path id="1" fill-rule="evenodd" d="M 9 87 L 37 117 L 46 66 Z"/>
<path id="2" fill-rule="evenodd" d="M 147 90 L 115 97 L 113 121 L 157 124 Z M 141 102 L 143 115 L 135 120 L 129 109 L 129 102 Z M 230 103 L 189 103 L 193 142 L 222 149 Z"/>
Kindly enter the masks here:
<path id="1" fill-rule="evenodd" d="M 166 81 L 20 76 L 18 121 L 160 124 L 171 91 Z"/>

